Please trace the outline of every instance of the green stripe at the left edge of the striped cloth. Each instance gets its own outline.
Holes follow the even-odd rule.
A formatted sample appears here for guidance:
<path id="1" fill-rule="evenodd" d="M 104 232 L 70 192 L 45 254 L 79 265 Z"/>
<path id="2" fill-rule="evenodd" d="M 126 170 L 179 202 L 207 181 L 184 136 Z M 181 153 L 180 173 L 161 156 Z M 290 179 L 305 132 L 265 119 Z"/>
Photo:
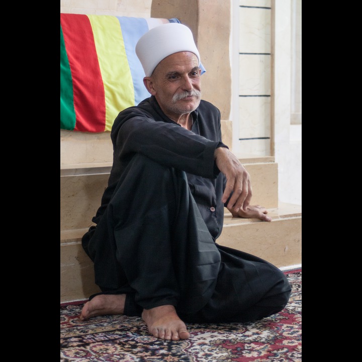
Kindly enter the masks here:
<path id="1" fill-rule="evenodd" d="M 60 26 L 60 128 L 72 131 L 74 127 L 73 82 Z"/>

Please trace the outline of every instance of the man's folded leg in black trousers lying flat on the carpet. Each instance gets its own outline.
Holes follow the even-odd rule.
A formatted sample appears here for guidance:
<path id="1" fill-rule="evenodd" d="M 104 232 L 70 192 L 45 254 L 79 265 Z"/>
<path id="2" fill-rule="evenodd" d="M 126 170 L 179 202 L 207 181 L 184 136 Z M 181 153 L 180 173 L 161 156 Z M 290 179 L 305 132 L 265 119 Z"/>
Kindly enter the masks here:
<path id="1" fill-rule="evenodd" d="M 279 268 L 240 250 L 218 248 L 221 265 L 214 294 L 199 312 L 179 313 L 183 320 L 248 322 L 278 313 L 287 305 L 291 286 Z"/>

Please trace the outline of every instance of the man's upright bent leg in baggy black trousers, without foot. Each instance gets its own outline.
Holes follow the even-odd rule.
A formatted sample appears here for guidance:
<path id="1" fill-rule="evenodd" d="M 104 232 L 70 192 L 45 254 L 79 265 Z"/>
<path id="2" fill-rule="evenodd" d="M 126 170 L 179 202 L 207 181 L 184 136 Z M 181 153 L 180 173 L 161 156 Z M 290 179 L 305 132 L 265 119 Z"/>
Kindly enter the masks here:
<path id="1" fill-rule="evenodd" d="M 131 162 L 108 207 L 118 265 L 142 308 L 198 310 L 215 287 L 220 253 L 186 174 L 142 155 Z"/>

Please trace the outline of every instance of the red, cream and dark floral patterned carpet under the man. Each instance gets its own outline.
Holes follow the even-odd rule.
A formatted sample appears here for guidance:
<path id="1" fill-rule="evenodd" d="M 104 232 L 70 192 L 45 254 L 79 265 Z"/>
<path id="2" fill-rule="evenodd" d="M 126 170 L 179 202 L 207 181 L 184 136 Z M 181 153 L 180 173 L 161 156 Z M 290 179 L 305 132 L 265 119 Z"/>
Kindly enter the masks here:
<path id="1" fill-rule="evenodd" d="M 301 362 L 302 270 L 285 272 L 292 295 L 286 308 L 249 323 L 187 324 L 191 337 L 165 341 L 139 317 L 80 321 L 83 304 L 60 307 L 61 362 Z"/>

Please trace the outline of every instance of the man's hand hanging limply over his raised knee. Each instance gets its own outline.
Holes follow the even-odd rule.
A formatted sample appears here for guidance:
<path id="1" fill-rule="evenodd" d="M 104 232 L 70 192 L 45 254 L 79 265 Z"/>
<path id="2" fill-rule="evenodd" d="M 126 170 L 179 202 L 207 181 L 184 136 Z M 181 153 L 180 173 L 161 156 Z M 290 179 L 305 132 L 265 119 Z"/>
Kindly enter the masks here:
<path id="1" fill-rule="evenodd" d="M 249 173 L 228 148 L 218 147 L 214 155 L 216 165 L 226 176 L 222 202 L 225 203 L 233 192 L 227 205 L 228 210 L 235 214 L 238 213 L 239 209 L 246 212 L 252 196 Z"/>

